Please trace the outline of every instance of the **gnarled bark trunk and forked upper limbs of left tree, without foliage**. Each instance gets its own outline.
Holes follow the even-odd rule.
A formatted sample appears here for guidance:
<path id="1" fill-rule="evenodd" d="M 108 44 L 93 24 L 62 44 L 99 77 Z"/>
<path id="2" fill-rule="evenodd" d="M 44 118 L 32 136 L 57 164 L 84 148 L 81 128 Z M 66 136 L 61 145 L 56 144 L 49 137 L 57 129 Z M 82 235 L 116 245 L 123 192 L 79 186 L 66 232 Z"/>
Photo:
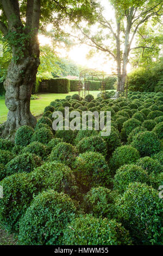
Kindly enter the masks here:
<path id="1" fill-rule="evenodd" d="M 8 137 L 22 125 L 34 127 L 36 118 L 30 113 L 30 96 L 40 64 L 40 50 L 37 34 L 40 20 L 40 0 L 27 0 L 26 27 L 20 18 L 20 8 L 17 0 L 2 0 L 3 12 L 7 17 L 7 26 L 0 24 L 4 35 L 9 32 L 24 33 L 22 56 L 18 57 L 18 48 L 22 44 L 12 45 L 12 60 L 9 64 L 7 78 L 4 82 L 5 104 L 9 109 L 3 137 Z M 3 25 L 3 26 L 1 26 Z M 32 33 L 31 33 L 32 32 Z M 29 33 L 31 35 L 29 36 Z"/>

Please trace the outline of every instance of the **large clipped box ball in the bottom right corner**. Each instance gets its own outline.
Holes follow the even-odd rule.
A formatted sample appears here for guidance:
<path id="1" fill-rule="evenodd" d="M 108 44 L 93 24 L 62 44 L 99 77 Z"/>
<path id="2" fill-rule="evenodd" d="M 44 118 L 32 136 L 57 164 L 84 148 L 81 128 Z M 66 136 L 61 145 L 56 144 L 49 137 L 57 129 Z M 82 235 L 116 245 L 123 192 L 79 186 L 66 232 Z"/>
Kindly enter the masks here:
<path id="1" fill-rule="evenodd" d="M 160 242 L 163 205 L 158 191 L 146 184 L 130 183 L 116 207 L 118 221 L 129 230 L 136 244 Z"/>

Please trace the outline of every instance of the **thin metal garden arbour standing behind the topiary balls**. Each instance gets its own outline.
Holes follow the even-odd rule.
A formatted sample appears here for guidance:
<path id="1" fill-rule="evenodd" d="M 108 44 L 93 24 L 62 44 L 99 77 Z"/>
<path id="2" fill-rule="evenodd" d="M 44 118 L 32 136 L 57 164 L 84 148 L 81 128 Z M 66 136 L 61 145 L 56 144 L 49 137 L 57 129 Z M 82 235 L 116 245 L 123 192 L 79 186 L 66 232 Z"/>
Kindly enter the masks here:
<path id="1" fill-rule="evenodd" d="M 99 72 L 94 69 L 84 69 L 80 72 L 79 76 L 79 84 L 78 84 L 78 93 L 80 96 L 85 97 L 90 92 L 90 81 L 93 78 L 97 78 L 96 81 L 101 82 L 100 93 L 101 95 L 105 95 L 106 93 L 106 77 L 117 77 L 116 74 L 104 74 L 104 72 Z"/>

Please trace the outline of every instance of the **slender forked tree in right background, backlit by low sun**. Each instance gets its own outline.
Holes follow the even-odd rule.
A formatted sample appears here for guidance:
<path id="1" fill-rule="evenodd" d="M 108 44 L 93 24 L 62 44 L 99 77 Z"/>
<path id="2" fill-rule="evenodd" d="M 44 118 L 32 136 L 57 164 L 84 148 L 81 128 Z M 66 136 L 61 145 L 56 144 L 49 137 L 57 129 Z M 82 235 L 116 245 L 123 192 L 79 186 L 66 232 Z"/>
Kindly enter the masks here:
<path id="1" fill-rule="evenodd" d="M 113 58 L 117 64 L 117 90 L 123 91 L 127 76 L 127 64 L 129 54 L 135 47 L 131 47 L 135 35 L 141 26 L 150 19 L 159 21 L 162 13 L 162 1 L 160 0 L 111 0 L 110 8 L 114 13 L 114 19 L 110 19 L 105 8 L 101 7 L 97 14 L 97 25 L 84 23 L 74 24 L 74 28 L 80 31 L 75 37 L 80 42 L 99 51 L 103 51 Z M 108 2 L 109 5 L 109 2 Z M 77 34 L 77 33 L 76 33 Z M 142 48 L 137 46 L 136 48 Z M 143 46 L 146 48 L 146 46 Z"/>

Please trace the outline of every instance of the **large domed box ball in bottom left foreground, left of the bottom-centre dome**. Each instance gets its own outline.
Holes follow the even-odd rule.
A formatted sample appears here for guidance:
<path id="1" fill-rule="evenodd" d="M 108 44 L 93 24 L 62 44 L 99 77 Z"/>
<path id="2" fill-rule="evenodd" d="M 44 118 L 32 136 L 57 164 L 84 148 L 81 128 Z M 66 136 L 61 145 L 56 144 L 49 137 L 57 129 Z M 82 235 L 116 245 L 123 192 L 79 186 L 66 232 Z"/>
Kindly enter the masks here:
<path id="1" fill-rule="evenodd" d="M 22 245 L 61 245 L 63 230 L 77 213 L 64 193 L 48 190 L 36 196 L 20 221 Z"/>

